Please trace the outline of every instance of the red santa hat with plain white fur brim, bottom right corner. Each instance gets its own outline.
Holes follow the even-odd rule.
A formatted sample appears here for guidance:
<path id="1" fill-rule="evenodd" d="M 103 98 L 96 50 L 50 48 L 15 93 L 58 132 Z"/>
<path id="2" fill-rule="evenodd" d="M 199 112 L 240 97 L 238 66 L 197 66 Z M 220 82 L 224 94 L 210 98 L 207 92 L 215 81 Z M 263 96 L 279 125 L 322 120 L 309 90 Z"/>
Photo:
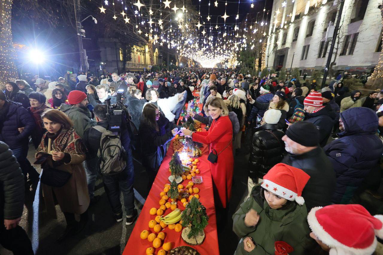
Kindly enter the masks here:
<path id="1" fill-rule="evenodd" d="M 313 234 L 329 246 L 330 255 L 372 254 L 383 238 L 383 215 L 372 216 L 360 204 L 314 207 L 307 216 Z"/>

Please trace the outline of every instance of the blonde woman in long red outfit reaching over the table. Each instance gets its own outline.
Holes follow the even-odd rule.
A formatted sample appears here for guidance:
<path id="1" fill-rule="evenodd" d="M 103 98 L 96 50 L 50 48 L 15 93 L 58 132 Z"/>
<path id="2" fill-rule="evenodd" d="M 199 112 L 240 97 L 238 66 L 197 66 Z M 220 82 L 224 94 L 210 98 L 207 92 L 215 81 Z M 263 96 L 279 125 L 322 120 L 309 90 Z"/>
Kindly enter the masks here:
<path id="1" fill-rule="evenodd" d="M 233 177 L 234 157 L 232 153 L 233 128 L 229 119 L 229 110 L 221 98 L 214 97 L 206 103 L 205 113 L 213 119 L 208 132 L 183 130 L 185 136 L 191 135 L 193 141 L 209 145 L 209 153 L 218 155 L 216 163 L 210 162 L 214 191 L 218 192 L 221 205 L 226 208 L 230 200 Z M 215 194 L 216 196 L 217 194 Z"/>

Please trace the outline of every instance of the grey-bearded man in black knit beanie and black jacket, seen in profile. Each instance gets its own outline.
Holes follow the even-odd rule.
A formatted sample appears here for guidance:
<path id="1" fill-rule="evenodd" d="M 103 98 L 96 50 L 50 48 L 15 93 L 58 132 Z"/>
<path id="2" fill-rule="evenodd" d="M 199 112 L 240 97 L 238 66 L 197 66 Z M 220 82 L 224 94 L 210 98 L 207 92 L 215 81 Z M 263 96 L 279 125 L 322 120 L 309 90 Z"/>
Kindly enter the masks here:
<path id="1" fill-rule="evenodd" d="M 319 131 L 307 121 L 296 122 L 282 137 L 288 154 L 282 163 L 302 169 L 310 180 L 303 189 L 307 211 L 316 206 L 331 203 L 336 187 L 336 177 L 332 164 L 319 146 Z"/>

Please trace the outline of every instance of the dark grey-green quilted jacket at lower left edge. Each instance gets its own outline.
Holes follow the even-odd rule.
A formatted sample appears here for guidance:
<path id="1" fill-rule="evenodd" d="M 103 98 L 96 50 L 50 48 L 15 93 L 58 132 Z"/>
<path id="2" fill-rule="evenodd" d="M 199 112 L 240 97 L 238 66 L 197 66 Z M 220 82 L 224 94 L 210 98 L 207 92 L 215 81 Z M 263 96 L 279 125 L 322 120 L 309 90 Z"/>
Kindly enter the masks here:
<path id="1" fill-rule="evenodd" d="M 24 175 L 8 145 L 0 142 L 0 219 L 17 219 L 24 209 Z"/>

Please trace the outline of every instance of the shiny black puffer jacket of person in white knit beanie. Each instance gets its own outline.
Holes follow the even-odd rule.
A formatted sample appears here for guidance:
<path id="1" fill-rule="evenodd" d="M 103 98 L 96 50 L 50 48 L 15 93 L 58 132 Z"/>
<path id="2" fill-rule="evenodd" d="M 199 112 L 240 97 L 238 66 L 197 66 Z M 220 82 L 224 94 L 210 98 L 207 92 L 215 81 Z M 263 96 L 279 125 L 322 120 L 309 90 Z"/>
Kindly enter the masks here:
<path id="1" fill-rule="evenodd" d="M 283 159 L 285 144 L 282 137 L 285 134 L 277 129 L 276 124 L 263 124 L 254 130 L 249 157 L 249 177 L 255 183 L 258 182 L 257 178 L 262 179 L 270 168 Z"/>

